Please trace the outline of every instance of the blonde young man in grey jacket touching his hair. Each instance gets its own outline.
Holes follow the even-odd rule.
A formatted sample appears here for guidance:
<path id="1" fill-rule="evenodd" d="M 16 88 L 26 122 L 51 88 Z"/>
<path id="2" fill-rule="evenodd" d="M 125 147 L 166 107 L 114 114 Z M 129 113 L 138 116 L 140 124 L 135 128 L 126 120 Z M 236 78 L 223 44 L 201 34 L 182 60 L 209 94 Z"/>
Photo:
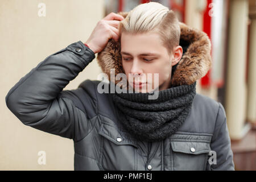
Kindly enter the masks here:
<path id="1" fill-rule="evenodd" d="M 127 76 L 122 89 L 137 92 L 100 93 L 111 84 L 96 80 L 63 90 L 95 53 L 106 75 L 114 68 Z M 234 170 L 224 107 L 196 94 L 210 65 L 207 35 L 150 2 L 109 14 L 85 44 L 48 56 L 14 85 L 6 104 L 25 125 L 73 139 L 75 170 Z"/>

